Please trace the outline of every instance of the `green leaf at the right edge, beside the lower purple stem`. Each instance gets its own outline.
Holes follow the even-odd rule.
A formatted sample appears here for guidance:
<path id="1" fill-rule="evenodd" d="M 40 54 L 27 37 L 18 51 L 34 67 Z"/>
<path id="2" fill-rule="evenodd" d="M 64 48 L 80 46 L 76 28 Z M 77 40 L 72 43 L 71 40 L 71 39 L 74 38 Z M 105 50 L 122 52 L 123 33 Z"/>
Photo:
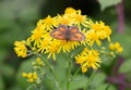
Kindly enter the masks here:
<path id="1" fill-rule="evenodd" d="M 131 59 L 126 61 L 119 69 L 119 73 L 128 73 L 131 72 Z"/>

